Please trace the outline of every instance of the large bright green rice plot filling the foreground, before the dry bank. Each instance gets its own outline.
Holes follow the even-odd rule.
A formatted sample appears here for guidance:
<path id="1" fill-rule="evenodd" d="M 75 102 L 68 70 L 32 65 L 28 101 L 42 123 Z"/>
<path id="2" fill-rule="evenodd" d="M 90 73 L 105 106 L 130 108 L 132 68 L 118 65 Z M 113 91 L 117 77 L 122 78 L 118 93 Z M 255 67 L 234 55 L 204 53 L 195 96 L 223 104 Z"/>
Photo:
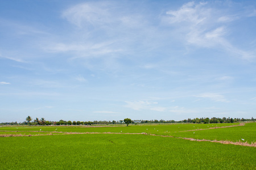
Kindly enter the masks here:
<path id="1" fill-rule="evenodd" d="M 142 134 L 0 138 L 1 169 L 255 169 L 254 147 Z"/>

